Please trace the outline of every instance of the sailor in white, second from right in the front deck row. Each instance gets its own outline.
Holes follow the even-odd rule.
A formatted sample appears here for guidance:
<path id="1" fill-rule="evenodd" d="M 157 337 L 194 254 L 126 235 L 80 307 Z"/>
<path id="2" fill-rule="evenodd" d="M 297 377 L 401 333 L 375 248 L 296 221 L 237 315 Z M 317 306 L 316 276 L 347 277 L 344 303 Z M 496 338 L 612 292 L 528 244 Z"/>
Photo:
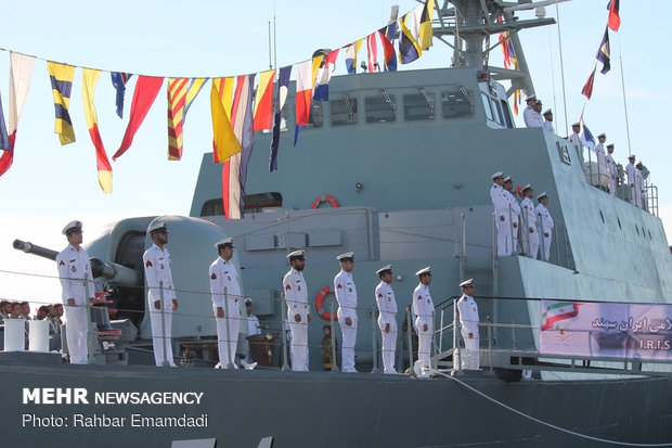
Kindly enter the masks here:
<path id="1" fill-rule="evenodd" d="M 429 294 L 431 283 L 431 270 L 428 267 L 415 272 L 419 283 L 413 291 L 413 315 L 415 317 L 415 331 L 417 332 L 417 359 L 421 369 L 427 373 L 431 369 L 431 340 L 434 337 L 434 302 Z"/>

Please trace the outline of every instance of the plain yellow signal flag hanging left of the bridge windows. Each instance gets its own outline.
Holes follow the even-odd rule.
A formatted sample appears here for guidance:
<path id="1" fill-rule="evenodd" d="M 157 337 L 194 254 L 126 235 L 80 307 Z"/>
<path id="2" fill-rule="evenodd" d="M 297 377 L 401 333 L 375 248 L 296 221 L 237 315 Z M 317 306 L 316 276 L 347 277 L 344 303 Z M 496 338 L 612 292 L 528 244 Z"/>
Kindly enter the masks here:
<path id="1" fill-rule="evenodd" d="M 214 78 L 210 90 L 210 111 L 212 113 L 212 162 L 221 164 L 233 154 L 243 151 L 231 127 L 231 101 L 233 78 Z"/>

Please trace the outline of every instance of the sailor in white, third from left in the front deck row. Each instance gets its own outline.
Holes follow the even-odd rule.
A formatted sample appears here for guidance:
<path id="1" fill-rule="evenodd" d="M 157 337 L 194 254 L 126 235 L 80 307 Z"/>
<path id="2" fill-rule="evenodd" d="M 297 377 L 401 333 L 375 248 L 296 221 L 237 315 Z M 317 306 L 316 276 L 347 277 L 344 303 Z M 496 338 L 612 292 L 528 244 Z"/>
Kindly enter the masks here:
<path id="1" fill-rule="evenodd" d="M 219 255 L 210 265 L 210 293 L 217 322 L 217 348 L 222 369 L 237 369 L 235 350 L 241 329 L 241 286 L 233 257 L 233 239 L 225 238 L 214 244 Z M 225 294 L 224 294 L 225 292 Z M 231 357 L 229 356 L 231 354 Z M 231 364 L 231 366 L 229 366 Z"/>

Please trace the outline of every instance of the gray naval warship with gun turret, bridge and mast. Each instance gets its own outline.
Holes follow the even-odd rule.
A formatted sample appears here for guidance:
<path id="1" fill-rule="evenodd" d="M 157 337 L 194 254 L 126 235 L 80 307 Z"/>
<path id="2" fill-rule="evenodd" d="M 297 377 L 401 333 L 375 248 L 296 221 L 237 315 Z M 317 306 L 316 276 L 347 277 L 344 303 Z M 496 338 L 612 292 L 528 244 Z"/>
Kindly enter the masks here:
<path id="1" fill-rule="evenodd" d="M 581 148 L 542 128 L 516 128 L 509 97 L 518 89 L 534 92 L 518 33 L 554 23 L 517 18 L 516 7 L 439 2 L 434 36 L 454 39 L 452 65 L 332 78 L 329 100 L 312 102 L 296 146 L 290 95 L 281 169 L 269 172 L 271 132 L 255 135 L 242 218 L 225 219 L 222 167 L 204 154 L 189 217 L 122 219 L 88 243 L 96 282 L 117 315 L 107 322 L 103 312 L 93 325 L 90 364 L 64 363 L 53 353 L 0 354 L 0 377 L 12 385 L 0 410 L 7 445 L 672 443 L 668 364 L 539 349 L 540 300 L 672 304 L 672 257 L 654 210 L 633 206 L 622 183 L 611 196 L 593 182 Z M 486 39 L 505 31 L 518 71 L 484 63 L 492 50 Z M 489 190 L 500 170 L 551 199 L 548 261 L 526 256 L 525 248 L 497 255 Z M 153 366 L 144 312 L 142 253 L 152 244 L 146 230 L 155 220 L 170 230 L 180 300 L 172 327 L 177 369 Z M 205 276 L 217 256 L 212 244 L 227 236 L 234 240 L 244 295 L 262 328 L 261 357 L 250 370 L 214 369 L 216 325 Z M 613 257 L 615 242 L 628 257 Z M 53 255 L 22 241 L 15 247 Z M 307 258 L 310 372 L 288 369 L 282 278 L 286 256 L 296 249 Z M 336 256 L 346 252 L 356 257 L 358 373 L 339 372 L 338 362 L 325 371 L 322 355 L 325 325 L 339 338 L 333 278 L 340 269 Z M 429 376 L 411 366 L 410 333 L 398 342 L 398 369 L 405 373 L 382 374 L 374 289 L 375 271 L 388 264 L 400 329 L 417 285 L 414 273 L 426 266 L 434 273 Z M 464 345 L 455 299 L 469 278 L 480 310 L 479 371 L 458 362 Z"/>

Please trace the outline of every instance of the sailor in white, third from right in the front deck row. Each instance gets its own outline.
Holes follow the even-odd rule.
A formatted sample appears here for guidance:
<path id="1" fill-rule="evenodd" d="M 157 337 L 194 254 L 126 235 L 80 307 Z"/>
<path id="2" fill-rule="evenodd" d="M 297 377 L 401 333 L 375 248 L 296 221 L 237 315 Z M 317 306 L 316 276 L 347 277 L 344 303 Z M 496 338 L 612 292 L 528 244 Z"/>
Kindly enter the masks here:
<path id="1" fill-rule="evenodd" d="M 392 266 L 387 265 L 376 271 L 380 283 L 376 286 L 378 305 L 378 327 L 383 338 L 383 373 L 395 374 L 395 351 L 397 350 L 397 299 L 392 291 Z"/>

